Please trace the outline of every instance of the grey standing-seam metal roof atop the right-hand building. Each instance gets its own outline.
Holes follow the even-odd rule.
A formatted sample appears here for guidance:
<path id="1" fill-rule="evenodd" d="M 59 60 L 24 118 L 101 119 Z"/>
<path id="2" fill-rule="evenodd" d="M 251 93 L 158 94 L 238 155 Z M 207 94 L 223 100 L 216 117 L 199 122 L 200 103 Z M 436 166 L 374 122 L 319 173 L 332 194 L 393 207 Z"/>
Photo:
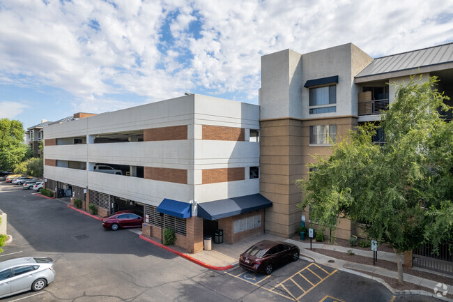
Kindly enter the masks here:
<path id="1" fill-rule="evenodd" d="M 453 43 L 448 43 L 374 59 L 355 77 L 381 75 L 451 62 L 453 62 Z"/>

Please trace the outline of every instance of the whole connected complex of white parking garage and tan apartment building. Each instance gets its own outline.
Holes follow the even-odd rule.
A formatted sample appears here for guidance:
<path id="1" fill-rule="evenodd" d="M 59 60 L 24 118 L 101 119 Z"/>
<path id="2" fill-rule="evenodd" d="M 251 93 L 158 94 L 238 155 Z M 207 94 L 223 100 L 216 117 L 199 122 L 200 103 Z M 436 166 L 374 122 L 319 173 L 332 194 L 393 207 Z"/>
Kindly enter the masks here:
<path id="1" fill-rule="evenodd" d="M 309 221 L 294 182 L 307 177 L 312 156 L 329 156 L 331 142 L 360 123 L 379 123 L 394 101 L 388 83 L 411 75 L 438 76 L 451 98 L 453 43 L 378 59 L 352 43 L 267 54 L 259 105 L 189 95 L 47 126 L 46 188 L 101 215 L 143 213 L 144 234 L 160 238 L 171 227 L 190 252 L 217 228 L 225 243 L 262 232 L 289 237 L 302 216 Z M 357 232 L 339 220 L 339 238 Z"/>

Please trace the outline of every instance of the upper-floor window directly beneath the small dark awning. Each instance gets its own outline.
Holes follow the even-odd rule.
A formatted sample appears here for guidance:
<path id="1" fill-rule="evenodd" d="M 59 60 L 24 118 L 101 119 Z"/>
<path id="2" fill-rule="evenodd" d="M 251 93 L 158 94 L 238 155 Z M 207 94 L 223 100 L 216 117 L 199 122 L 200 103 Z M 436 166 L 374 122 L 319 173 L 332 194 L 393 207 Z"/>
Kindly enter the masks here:
<path id="1" fill-rule="evenodd" d="M 310 88 L 310 114 L 336 112 L 332 104 L 337 104 L 337 85 Z"/>

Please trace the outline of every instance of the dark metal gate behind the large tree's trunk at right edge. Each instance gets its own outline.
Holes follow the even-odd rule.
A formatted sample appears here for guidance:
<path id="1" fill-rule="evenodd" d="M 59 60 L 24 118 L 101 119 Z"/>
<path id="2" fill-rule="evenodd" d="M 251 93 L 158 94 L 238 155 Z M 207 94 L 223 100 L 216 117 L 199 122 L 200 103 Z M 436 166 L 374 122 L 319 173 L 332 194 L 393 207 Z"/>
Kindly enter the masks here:
<path id="1" fill-rule="evenodd" d="M 439 253 L 433 253 L 432 244 L 424 244 L 413 250 L 413 266 L 453 275 L 452 243 L 440 244 Z"/>

